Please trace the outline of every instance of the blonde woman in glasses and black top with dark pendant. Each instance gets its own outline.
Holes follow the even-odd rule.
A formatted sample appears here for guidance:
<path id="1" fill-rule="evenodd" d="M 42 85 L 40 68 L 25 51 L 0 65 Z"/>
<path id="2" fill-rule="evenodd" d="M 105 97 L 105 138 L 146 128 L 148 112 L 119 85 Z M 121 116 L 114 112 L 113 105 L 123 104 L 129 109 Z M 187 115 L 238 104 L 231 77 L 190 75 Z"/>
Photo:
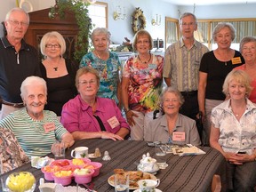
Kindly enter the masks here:
<path id="1" fill-rule="evenodd" d="M 68 100 L 76 96 L 76 66 L 65 60 L 66 43 L 63 36 L 56 31 L 46 33 L 40 43 L 44 60 L 41 73 L 48 87 L 48 103 L 45 109 L 61 115 L 61 109 Z"/>

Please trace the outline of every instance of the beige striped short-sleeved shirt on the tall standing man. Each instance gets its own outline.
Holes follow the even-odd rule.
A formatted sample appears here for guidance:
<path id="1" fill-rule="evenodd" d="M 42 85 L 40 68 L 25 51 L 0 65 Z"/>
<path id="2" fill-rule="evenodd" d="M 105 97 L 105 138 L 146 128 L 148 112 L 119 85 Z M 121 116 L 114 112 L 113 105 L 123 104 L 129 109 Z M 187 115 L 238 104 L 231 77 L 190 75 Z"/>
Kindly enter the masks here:
<path id="1" fill-rule="evenodd" d="M 171 86 L 180 92 L 196 91 L 199 81 L 200 60 L 208 48 L 195 40 L 191 49 L 180 41 L 171 44 L 164 56 L 164 77 L 171 78 Z"/>

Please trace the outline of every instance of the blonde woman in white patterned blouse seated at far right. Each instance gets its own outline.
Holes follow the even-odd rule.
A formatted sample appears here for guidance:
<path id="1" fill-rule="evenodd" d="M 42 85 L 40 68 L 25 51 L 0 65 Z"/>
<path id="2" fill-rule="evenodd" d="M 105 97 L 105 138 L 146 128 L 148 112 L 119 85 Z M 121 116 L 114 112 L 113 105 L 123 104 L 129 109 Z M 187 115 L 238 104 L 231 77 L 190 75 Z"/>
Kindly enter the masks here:
<path id="1" fill-rule="evenodd" d="M 248 95 L 251 79 L 243 70 L 226 77 L 229 100 L 212 109 L 210 144 L 226 158 L 227 191 L 254 191 L 256 186 L 256 106 Z"/>

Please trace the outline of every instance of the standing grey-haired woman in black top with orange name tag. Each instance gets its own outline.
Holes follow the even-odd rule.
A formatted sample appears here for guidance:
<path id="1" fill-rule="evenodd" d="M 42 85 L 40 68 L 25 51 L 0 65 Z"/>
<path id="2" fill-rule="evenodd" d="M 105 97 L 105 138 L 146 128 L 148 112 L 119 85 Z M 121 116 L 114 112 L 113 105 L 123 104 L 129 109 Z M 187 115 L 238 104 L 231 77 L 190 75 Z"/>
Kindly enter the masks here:
<path id="1" fill-rule="evenodd" d="M 231 23 L 218 23 L 212 38 L 217 49 L 204 53 L 199 68 L 198 105 L 203 116 L 204 145 L 209 145 L 212 108 L 226 99 L 222 92 L 225 77 L 233 68 L 244 64 L 241 53 L 231 48 L 236 38 L 236 30 Z"/>

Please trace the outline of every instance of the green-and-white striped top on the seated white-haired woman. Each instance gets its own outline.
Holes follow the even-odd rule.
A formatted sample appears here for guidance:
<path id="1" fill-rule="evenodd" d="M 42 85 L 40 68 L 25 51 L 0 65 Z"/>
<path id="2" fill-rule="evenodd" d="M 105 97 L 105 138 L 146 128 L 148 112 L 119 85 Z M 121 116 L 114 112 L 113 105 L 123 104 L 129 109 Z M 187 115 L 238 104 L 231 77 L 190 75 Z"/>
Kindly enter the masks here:
<path id="1" fill-rule="evenodd" d="M 46 123 L 53 123 L 55 130 L 45 133 Z M 29 157 L 45 156 L 51 153 L 55 140 L 61 140 L 61 137 L 68 132 L 52 111 L 44 110 L 44 119 L 36 121 L 28 115 L 26 108 L 6 116 L 0 121 L 0 126 L 10 129 L 14 133 L 21 148 Z"/>

